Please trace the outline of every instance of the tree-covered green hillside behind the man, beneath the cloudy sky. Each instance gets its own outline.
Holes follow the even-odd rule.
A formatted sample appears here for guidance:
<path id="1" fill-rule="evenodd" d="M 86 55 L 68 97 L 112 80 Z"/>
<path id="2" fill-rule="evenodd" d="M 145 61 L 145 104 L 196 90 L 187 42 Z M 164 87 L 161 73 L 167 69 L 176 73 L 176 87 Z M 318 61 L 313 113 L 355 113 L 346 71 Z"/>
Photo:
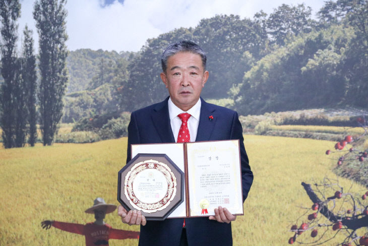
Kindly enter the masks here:
<path id="1" fill-rule="evenodd" d="M 253 19 L 203 19 L 196 27 L 148 39 L 137 53 L 73 51 L 69 91 L 86 91 L 67 96 L 64 119 L 112 109 L 132 111 L 161 101 L 167 90 L 159 77 L 160 55 L 169 43 L 183 39 L 194 40 L 207 52 L 210 77 L 202 96 L 240 114 L 366 108 L 367 9 L 368 0 L 329 1 L 312 19 L 305 5 L 281 5 Z"/>

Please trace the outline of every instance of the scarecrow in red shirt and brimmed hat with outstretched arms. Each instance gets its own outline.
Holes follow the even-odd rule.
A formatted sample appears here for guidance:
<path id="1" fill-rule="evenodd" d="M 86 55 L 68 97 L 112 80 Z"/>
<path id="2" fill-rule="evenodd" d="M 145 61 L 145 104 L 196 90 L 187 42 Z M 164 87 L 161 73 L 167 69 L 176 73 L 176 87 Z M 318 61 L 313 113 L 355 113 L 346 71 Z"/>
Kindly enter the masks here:
<path id="1" fill-rule="evenodd" d="M 107 245 L 108 239 L 126 239 L 126 238 L 139 238 L 138 231 L 127 231 L 113 229 L 109 224 L 106 224 L 103 220 L 105 215 L 113 212 L 116 206 L 113 204 L 106 204 L 102 198 L 96 198 L 93 202 L 93 206 L 87 209 L 85 212 L 89 214 L 95 214 L 95 222 L 90 222 L 85 225 L 45 220 L 41 222 L 41 226 L 44 229 L 49 229 L 51 225 L 60 230 L 73 232 L 84 235 L 86 238 L 86 246 L 95 245 Z"/>

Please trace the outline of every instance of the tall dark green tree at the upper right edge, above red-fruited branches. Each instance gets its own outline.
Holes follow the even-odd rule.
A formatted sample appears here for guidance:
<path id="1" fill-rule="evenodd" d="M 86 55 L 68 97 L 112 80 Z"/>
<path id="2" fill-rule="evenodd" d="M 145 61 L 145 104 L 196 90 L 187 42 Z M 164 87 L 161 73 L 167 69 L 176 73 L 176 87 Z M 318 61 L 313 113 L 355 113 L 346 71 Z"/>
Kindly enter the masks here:
<path id="1" fill-rule="evenodd" d="M 368 1 L 329 1 L 318 15 L 325 25 L 341 23 L 353 28 L 354 36 L 344 50 L 340 71 L 346 80 L 345 103 L 365 107 L 368 103 Z"/>

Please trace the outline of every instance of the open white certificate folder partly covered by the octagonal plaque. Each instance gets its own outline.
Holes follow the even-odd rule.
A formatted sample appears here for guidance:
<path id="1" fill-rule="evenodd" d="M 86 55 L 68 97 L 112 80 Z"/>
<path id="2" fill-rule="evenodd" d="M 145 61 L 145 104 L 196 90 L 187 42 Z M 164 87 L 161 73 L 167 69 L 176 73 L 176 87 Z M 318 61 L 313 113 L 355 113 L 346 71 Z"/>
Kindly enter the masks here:
<path id="1" fill-rule="evenodd" d="M 132 145 L 132 157 L 140 153 L 166 154 L 185 174 L 183 202 L 167 218 L 210 216 L 218 206 L 244 214 L 239 140 Z"/>

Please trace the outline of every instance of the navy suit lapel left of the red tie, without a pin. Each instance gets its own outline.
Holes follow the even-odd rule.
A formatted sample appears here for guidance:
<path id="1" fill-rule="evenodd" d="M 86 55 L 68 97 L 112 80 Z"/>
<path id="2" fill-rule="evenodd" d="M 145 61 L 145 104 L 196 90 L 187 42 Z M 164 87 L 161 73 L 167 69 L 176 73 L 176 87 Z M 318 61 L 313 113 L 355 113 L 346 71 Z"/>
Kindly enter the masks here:
<path id="1" fill-rule="evenodd" d="M 172 135 L 167 100 L 168 97 L 165 101 L 157 104 L 151 117 L 162 143 L 174 143 L 175 138 Z"/>

